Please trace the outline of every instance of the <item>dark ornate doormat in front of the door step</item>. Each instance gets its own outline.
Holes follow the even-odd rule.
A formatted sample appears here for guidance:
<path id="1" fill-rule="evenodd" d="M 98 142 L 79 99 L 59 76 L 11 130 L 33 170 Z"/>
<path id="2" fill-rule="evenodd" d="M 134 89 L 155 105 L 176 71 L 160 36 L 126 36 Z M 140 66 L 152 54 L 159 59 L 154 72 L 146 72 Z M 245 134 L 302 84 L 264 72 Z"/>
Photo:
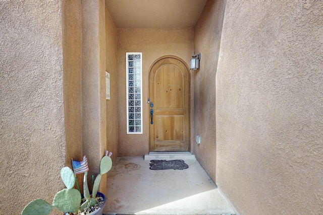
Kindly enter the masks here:
<path id="1" fill-rule="evenodd" d="M 183 160 L 151 160 L 149 169 L 151 170 L 184 170 L 188 168 Z"/>

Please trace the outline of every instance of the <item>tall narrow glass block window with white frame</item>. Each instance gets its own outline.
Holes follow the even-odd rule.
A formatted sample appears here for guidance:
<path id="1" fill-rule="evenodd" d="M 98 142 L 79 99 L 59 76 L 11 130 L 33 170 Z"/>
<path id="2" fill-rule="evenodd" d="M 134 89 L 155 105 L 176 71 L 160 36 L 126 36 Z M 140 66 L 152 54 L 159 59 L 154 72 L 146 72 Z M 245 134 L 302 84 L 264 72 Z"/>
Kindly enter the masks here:
<path id="1" fill-rule="evenodd" d="M 126 53 L 127 133 L 142 133 L 142 58 L 139 52 Z"/>

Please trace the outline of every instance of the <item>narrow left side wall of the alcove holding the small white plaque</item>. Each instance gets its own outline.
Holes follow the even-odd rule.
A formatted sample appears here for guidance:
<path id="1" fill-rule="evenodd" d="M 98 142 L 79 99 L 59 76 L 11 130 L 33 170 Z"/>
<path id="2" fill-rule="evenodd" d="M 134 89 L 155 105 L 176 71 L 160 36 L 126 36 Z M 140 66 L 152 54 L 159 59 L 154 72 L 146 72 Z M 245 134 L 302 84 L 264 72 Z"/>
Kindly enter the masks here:
<path id="1" fill-rule="evenodd" d="M 105 71 L 110 74 L 110 100 L 106 100 L 106 149 L 118 156 L 117 28 L 105 7 Z"/>

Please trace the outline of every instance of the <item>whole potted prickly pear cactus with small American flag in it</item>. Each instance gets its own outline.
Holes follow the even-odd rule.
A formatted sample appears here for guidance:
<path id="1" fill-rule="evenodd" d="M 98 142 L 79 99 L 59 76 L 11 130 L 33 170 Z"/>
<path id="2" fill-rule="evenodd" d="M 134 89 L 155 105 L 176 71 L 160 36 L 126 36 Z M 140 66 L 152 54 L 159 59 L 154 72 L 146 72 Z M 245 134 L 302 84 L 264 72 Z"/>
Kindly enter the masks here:
<path id="1" fill-rule="evenodd" d="M 100 161 L 100 173 L 96 176 L 93 183 L 92 194 L 90 194 L 87 184 L 87 159 L 84 156 L 83 161 L 72 161 L 73 170 L 69 167 L 64 167 L 61 170 L 61 177 L 66 186 L 65 189 L 59 191 L 52 204 L 47 203 L 43 199 L 35 199 L 29 202 L 25 208 L 22 210 L 21 215 L 47 215 L 52 210 L 56 208 L 60 211 L 65 212 L 65 214 L 88 214 L 88 215 L 101 215 L 103 212 L 103 207 L 105 205 L 105 196 L 102 193 L 97 192 L 100 184 L 101 176 L 107 172 L 112 167 L 112 160 L 108 156 L 108 151 L 105 152 L 105 156 Z M 76 182 L 76 175 L 84 173 L 83 180 L 83 200 L 79 189 L 74 189 Z M 99 204 L 99 207 L 95 210 L 93 206 Z M 93 212 L 91 212 L 94 210 Z"/>

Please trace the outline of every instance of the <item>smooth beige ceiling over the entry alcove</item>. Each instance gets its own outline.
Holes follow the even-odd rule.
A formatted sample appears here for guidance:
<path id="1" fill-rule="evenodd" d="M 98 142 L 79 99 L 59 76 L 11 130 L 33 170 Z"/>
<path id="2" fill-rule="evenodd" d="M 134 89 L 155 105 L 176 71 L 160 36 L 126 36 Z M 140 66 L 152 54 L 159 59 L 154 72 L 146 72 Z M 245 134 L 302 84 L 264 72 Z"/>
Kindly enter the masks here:
<path id="1" fill-rule="evenodd" d="M 105 0 L 117 28 L 193 28 L 207 0 Z"/>

